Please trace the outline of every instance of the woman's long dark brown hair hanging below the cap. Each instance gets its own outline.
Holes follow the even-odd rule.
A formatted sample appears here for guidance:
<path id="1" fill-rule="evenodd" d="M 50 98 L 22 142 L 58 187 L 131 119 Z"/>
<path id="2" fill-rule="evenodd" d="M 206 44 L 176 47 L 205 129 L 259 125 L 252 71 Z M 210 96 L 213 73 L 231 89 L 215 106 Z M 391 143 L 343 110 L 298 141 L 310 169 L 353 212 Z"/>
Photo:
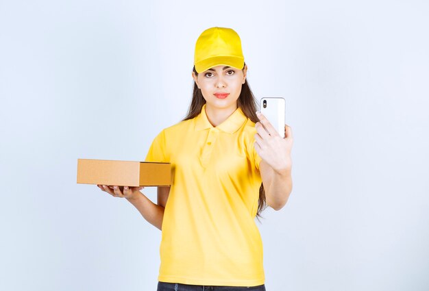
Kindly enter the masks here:
<path id="1" fill-rule="evenodd" d="M 243 66 L 242 71 L 244 70 L 246 63 Z M 193 67 L 193 71 L 196 76 L 198 76 L 197 71 L 195 70 L 195 66 Z M 206 103 L 206 99 L 204 99 L 203 94 L 201 93 L 201 89 L 198 88 L 197 83 L 194 80 L 193 93 L 192 93 L 192 101 L 189 106 L 188 113 L 186 117 L 182 121 L 186 121 L 188 119 L 194 118 L 197 116 Z M 241 85 L 241 93 L 237 100 L 237 106 L 241 108 L 245 116 L 250 118 L 251 121 L 257 123 L 259 121 L 258 116 L 256 116 L 256 108 L 258 107 L 258 103 L 250 90 L 249 82 L 247 81 L 247 77 L 245 83 Z M 256 212 L 256 216 L 263 218 L 260 213 L 267 208 L 267 203 L 265 201 L 265 190 L 264 185 L 260 184 L 259 188 L 259 199 L 258 199 L 258 212 Z M 258 217 L 256 217 L 258 218 Z M 260 222 L 259 218 L 258 221 Z"/>

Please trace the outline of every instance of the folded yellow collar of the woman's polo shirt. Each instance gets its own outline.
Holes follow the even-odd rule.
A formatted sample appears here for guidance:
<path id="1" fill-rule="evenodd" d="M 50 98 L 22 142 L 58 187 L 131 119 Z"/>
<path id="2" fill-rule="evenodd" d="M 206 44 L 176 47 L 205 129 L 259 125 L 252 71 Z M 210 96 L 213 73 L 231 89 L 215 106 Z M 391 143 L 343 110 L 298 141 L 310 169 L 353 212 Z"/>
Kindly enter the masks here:
<path id="1" fill-rule="evenodd" d="M 217 125 L 217 128 L 228 132 L 228 134 L 234 134 L 234 132 L 237 131 L 246 120 L 247 116 L 245 116 L 240 107 L 237 107 L 237 109 L 232 112 L 232 114 L 228 116 L 228 118 L 226 118 L 223 123 Z M 210 123 L 210 121 L 208 121 L 206 115 L 206 103 L 204 103 L 203 107 L 201 108 L 201 112 L 195 117 L 195 130 L 208 128 L 214 128 L 214 126 Z"/>

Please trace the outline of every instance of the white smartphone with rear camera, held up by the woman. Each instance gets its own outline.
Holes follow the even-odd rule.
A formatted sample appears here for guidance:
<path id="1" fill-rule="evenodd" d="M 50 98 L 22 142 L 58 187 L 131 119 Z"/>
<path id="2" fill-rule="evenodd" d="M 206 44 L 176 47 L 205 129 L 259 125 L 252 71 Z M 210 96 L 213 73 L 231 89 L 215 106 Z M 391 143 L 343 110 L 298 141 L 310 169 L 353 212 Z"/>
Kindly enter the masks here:
<path id="1" fill-rule="evenodd" d="M 286 123 L 286 101 L 283 97 L 262 97 L 260 99 L 260 112 L 277 129 L 278 134 L 284 138 L 284 124 Z"/>

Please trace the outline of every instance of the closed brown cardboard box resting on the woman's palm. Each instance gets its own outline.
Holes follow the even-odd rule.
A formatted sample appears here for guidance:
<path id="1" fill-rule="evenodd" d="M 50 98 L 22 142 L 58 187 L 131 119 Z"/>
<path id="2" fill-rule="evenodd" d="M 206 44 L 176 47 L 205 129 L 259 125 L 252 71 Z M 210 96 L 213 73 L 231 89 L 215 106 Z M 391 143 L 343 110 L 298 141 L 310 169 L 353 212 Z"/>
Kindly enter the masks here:
<path id="1" fill-rule="evenodd" d="M 117 186 L 170 186 L 171 164 L 77 159 L 77 183 Z"/>

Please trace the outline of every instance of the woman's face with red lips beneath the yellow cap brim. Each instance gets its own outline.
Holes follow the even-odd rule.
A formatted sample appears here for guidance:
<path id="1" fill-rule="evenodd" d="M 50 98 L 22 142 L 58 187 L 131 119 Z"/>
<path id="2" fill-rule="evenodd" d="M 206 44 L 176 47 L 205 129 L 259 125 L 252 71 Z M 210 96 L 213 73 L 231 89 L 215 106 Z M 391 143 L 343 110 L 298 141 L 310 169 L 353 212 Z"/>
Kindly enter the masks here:
<path id="1" fill-rule="evenodd" d="M 243 71 L 232 66 L 219 65 L 199 73 L 198 76 L 192 72 L 192 77 L 198 88 L 201 89 L 208 107 L 235 109 L 241 86 L 246 80 L 246 72 L 247 65 Z M 217 93 L 228 93 L 228 95 L 225 97 L 217 95 Z"/>

